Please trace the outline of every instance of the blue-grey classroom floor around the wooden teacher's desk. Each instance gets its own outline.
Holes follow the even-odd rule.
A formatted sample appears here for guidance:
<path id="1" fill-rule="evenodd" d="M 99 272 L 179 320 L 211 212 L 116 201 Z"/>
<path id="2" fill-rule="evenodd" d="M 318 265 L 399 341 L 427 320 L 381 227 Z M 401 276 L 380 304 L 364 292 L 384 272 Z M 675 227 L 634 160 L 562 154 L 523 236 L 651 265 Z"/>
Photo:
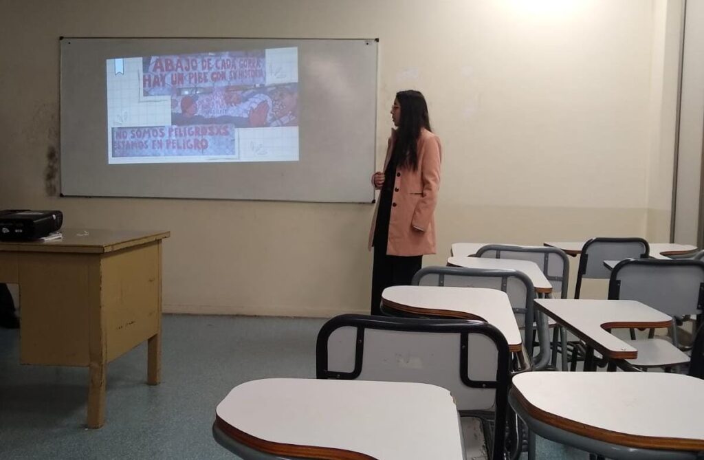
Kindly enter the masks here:
<path id="1" fill-rule="evenodd" d="M 323 322 L 164 316 L 161 385 L 146 385 L 144 345 L 110 363 L 99 430 L 84 428 L 87 368 L 20 366 L 19 332 L 0 329 L 0 459 L 234 459 L 210 433 L 215 406 L 247 380 L 314 378 Z M 538 458 L 588 456 L 539 440 Z"/>

